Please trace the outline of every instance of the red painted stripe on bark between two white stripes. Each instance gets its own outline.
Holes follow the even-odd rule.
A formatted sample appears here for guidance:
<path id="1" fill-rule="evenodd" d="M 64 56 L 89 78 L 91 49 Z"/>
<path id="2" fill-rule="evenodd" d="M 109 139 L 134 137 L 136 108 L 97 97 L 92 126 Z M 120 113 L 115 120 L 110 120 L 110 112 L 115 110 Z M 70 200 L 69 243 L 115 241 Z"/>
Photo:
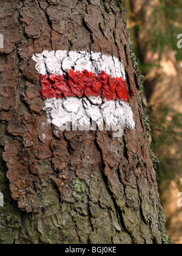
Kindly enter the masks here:
<path id="1" fill-rule="evenodd" d="M 104 71 L 95 74 L 84 70 L 73 71 L 70 69 L 66 74 L 51 74 L 39 76 L 42 90 L 42 98 L 67 98 L 84 96 L 103 96 L 107 100 L 124 99 L 129 102 L 129 92 L 126 82 L 122 77 L 113 78 Z"/>

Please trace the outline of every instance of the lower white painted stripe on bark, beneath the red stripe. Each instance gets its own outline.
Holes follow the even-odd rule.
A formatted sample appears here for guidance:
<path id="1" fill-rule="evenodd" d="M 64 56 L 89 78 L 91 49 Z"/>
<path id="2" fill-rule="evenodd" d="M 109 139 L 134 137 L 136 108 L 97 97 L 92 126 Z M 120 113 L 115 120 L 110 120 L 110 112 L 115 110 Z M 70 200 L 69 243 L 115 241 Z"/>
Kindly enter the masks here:
<path id="1" fill-rule="evenodd" d="M 46 99 L 45 112 L 49 123 L 60 130 L 112 130 L 122 137 L 124 127 L 134 129 L 132 108 L 124 101 L 107 101 L 95 98 Z M 90 124 L 91 120 L 91 124 Z"/>

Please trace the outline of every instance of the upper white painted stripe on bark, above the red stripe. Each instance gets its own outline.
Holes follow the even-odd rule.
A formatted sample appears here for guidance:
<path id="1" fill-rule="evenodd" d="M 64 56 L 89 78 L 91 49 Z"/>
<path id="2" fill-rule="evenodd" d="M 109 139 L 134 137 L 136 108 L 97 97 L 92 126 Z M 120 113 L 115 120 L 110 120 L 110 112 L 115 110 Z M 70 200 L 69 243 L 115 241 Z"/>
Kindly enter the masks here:
<path id="1" fill-rule="evenodd" d="M 75 51 L 43 51 L 33 55 L 37 62 L 36 69 L 39 74 L 64 74 L 69 69 L 75 71 L 92 71 L 99 74 L 105 71 L 111 77 L 122 77 L 126 80 L 123 62 L 116 57 L 104 55 L 99 52 Z"/>

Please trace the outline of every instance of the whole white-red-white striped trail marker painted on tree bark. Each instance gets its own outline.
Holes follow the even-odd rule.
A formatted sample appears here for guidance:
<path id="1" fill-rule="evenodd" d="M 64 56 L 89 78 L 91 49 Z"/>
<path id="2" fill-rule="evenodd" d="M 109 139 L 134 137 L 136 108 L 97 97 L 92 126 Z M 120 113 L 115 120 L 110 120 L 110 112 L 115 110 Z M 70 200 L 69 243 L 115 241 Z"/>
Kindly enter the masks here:
<path id="1" fill-rule="evenodd" d="M 134 129 L 123 62 L 93 52 L 44 51 L 33 56 L 49 123 L 60 130 Z"/>

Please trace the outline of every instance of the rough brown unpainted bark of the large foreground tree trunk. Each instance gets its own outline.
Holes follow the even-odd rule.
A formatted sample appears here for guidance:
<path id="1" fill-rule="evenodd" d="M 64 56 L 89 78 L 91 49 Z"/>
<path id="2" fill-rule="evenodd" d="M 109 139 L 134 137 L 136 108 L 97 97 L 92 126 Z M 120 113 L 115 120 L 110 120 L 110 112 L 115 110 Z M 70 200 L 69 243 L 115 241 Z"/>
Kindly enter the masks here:
<path id="1" fill-rule="evenodd" d="M 0 243 L 166 243 L 122 2 L 1 0 L 0 7 Z M 122 59 L 136 129 L 112 138 L 47 123 L 32 60 L 45 49 Z"/>

